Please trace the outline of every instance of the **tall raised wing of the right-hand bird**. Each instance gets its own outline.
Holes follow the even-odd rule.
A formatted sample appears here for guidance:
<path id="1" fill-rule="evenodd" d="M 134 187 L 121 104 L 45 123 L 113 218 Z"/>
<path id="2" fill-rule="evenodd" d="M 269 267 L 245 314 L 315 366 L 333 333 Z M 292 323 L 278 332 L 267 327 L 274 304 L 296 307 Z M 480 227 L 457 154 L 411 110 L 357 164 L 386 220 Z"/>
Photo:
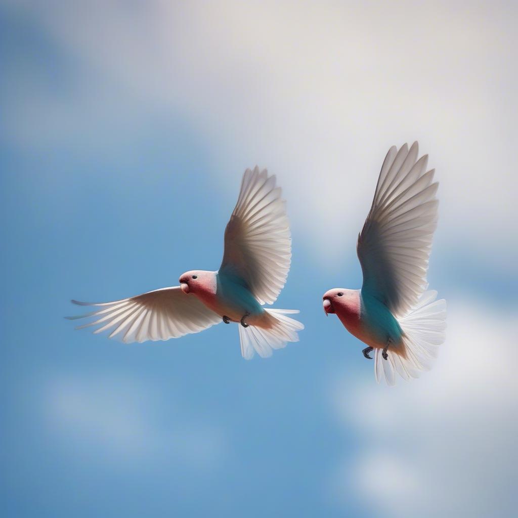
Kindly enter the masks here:
<path id="1" fill-rule="evenodd" d="M 381 300 L 396 316 L 411 311 L 426 290 L 426 271 L 437 225 L 438 183 L 418 143 L 385 157 L 367 220 L 358 236 L 362 293 Z"/>

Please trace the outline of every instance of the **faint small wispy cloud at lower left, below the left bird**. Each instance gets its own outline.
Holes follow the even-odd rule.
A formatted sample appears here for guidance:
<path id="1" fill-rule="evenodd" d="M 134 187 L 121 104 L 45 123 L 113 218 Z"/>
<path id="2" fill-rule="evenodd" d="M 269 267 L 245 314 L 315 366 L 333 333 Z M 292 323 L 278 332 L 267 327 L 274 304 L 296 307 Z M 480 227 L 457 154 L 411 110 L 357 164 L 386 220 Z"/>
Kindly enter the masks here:
<path id="1" fill-rule="evenodd" d="M 181 406 L 128 377 L 61 378 L 49 382 L 42 401 L 50 433 L 75 454 L 104 452 L 106 462 L 172 460 L 210 469 L 226 453 L 223 430 L 186 418 Z M 173 422 L 164 423 L 164 416 Z M 90 453 L 89 453 L 90 452 Z"/>

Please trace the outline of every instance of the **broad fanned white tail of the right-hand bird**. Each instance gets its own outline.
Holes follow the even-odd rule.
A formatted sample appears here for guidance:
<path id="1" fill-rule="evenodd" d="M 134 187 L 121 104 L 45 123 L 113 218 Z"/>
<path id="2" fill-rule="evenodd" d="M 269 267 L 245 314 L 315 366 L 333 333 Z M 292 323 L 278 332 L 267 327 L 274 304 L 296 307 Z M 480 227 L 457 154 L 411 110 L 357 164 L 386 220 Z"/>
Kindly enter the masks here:
<path id="1" fill-rule="evenodd" d="M 382 350 L 376 349 L 374 373 L 378 383 L 382 372 L 387 385 L 392 386 L 396 383 L 396 372 L 408 381 L 429 370 L 430 361 L 437 356 L 437 348 L 444 342 L 446 329 L 446 301 L 435 300 L 436 297 L 436 291 L 423 293 L 418 305 L 398 319 L 403 330 L 406 358 L 389 349 L 389 359 L 384 360 Z"/>

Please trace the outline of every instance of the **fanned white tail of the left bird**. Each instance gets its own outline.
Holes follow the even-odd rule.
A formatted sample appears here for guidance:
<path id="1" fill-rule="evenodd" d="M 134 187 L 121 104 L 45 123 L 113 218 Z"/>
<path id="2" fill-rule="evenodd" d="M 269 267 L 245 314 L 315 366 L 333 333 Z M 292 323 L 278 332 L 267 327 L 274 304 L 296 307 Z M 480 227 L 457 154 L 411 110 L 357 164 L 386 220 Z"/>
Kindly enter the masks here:
<path id="1" fill-rule="evenodd" d="M 298 342 L 297 331 L 304 329 L 304 324 L 291 319 L 286 314 L 298 313 L 298 309 L 266 309 L 274 321 L 269 329 L 261 327 L 239 326 L 241 354 L 244 359 L 251 359 L 254 351 L 262 358 L 271 356 L 273 349 L 286 347 L 287 342 Z"/>

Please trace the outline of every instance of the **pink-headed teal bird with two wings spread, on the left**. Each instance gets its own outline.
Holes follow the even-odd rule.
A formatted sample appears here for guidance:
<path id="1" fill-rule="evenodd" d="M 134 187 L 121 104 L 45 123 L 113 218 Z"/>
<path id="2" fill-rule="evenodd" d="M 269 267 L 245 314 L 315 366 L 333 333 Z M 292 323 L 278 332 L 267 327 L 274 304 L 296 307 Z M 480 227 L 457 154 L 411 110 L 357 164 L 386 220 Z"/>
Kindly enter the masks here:
<path id="1" fill-rule="evenodd" d="M 225 229 L 219 270 L 191 270 L 179 286 L 154 290 L 105 303 L 84 303 L 100 309 L 69 319 L 98 317 L 77 327 L 100 325 L 94 333 L 112 329 L 124 342 L 168 340 L 198 333 L 225 322 L 239 324 L 243 358 L 254 351 L 262 357 L 272 349 L 298 341 L 304 325 L 290 318 L 295 309 L 265 308 L 284 287 L 291 264 L 291 233 L 281 188 L 266 169 L 247 169 L 236 207 Z"/>

